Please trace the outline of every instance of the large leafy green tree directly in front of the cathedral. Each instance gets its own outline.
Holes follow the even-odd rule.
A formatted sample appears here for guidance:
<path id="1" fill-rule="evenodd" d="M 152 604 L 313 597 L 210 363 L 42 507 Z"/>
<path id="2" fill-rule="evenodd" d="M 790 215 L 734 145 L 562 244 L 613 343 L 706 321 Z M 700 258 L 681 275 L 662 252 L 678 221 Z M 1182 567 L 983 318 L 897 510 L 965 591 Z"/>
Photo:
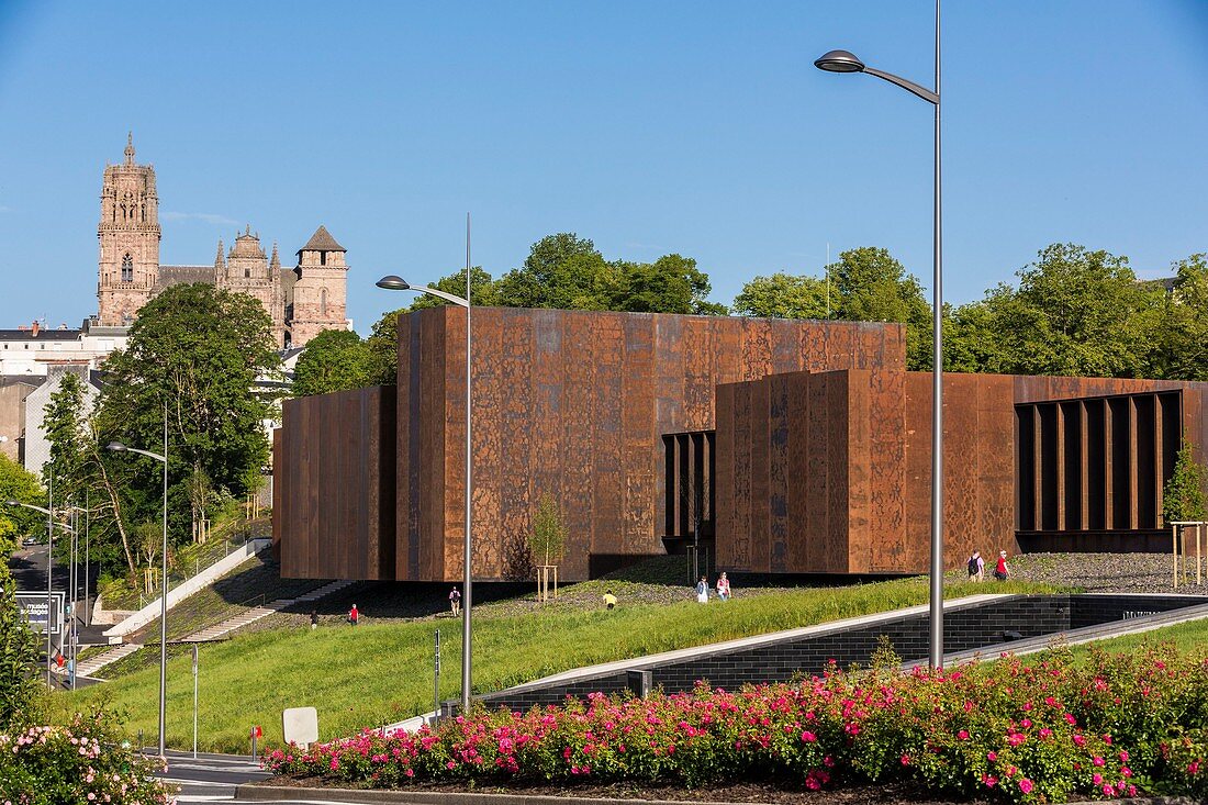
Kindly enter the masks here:
<path id="1" fill-rule="evenodd" d="M 278 377 L 280 359 L 263 307 L 244 294 L 213 285 L 174 285 L 139 311 L 127 348 L 105 361 L 106 383 L 97 413 L 98 444 L 120 440 L 162 452 L 168 417 L 172 532 L 188 533 L 188 479 L 201 470 L 233 497 L 252 491 L 268 461 L 263 422 L 275 413 L 275 393 L 257 382 Z M 156 520 L 161 465 L 117 457 L 124 522 Z M 116 461 L 110 457 L 111 468 Z M 117 504 L 115 503 L 115 506 Z"/>

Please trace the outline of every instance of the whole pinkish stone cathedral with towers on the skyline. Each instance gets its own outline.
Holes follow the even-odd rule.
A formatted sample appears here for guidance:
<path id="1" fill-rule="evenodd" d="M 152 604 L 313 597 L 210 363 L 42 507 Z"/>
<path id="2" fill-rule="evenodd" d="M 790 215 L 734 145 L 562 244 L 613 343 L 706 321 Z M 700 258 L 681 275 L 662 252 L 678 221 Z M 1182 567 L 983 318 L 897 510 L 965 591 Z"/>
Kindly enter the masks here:
<path id="1" fill-rule="evenodd" d="M 101 326 L 128 326 L 164 288 L 208 283 L 260 300 L 279 348 L 302 347 L 323 330 L 348 329 L 345 250 L 324 226 L 298 249 L 292 268 L 281 268 L 275 243 L 268 256 L 250 226 L 236 236 L 230 250 L 219 241 L 213 265 L 159 265 L 155 167 L 134 162 L 133 135 L 126 141 L 126 161 L 105 166 L 97 237 Z"/>

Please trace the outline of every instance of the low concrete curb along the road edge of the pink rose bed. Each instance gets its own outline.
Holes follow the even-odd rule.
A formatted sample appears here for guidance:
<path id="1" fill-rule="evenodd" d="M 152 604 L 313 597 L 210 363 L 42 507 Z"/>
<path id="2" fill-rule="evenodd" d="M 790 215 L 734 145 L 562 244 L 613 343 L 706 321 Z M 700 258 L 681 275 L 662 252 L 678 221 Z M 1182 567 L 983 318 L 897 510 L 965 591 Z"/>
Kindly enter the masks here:
<path id="1" fill-rule="evenodd" d="M 457 790 L 383 790 L 368 788 L 294 788 L 244 783 L 236 788 L 236 799 L 275 803 L 289 799 L 319 801 L 339 800 L 365 805 L 719 805 L 687 799 L 600 799 L 593 797 L 550 797 L 547 794 L 478 794 Z M 1111 800 L 1115 805 L 1201 805 L 1190 797 L 1154 797 Z M 760 805 L 730 803 L 728 805 Z M 766 805 L 766 804 L 765 804 Z"/>

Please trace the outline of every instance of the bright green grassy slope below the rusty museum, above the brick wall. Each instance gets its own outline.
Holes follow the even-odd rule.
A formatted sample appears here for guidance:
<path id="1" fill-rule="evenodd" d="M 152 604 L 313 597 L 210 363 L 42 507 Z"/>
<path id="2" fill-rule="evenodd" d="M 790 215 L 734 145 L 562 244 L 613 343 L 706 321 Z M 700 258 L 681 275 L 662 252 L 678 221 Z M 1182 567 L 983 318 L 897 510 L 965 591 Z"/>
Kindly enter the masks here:
<path id="1" fill-rule="evenodd" d="M 1039 592 L 1024 584 L 952 584 L 948 597 L 978 592 Z M 482 616 L 475 620 L 475 689 L 496 690 L 569 668 L 690 645 L 922 604 L 925 580 L 753 595 L 702 608 L 663 606 Z M 319 708 L 324 740 L 394 722 L 432 705 L 434 621 L 381 626 L 279 630 L 250 633 L 201 649 L 201 748 L 246 752 L 248 730 L 280 740 L 285 707 Z M 460 641 L 455 622 L 442 627 L 442 699 L 457 696 Z M 192 742 L 190 660 L 168 667 L 168 743 Z M 64 699 L 64 708 L 109 700 L 129 716 L 132 732 L 153 735 L 158 670 L 146 668 Z M 150 739 L 149 739 L 150 740 Z"/>

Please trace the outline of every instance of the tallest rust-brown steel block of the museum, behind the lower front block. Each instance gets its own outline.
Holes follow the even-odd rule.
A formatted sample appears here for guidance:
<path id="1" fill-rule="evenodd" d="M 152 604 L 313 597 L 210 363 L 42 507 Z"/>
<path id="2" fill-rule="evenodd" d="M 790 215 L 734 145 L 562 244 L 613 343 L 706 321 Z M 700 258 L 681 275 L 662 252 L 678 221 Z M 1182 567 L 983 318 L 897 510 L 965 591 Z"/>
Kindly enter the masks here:
<path id="1" fill-rule="evenodd" d="M 399 322 L 399 579 L 461 578 L 464 317 Z M 518 308 L 472 322 L 474 562 L 488 579 L 523 566 L 542 494 L 565 515 L 562 578 L 587 578 L 593 556 L 663 552 L 663 435 L 712 430 L 719 383 L 905 360 L 896 324 Z"/>

